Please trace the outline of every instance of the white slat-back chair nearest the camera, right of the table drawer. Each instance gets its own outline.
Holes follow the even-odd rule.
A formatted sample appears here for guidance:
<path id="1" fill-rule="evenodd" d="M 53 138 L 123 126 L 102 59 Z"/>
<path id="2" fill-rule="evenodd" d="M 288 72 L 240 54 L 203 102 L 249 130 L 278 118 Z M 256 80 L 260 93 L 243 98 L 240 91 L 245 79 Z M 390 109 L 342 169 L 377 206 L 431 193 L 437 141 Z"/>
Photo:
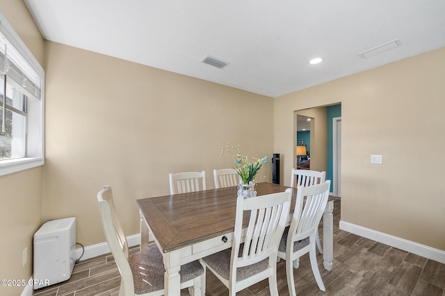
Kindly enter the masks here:
<path id="1" fill-rule="evenodd" d="M 270 295 L 278 295 L 277 251 L 289 217 L 291 192 L 287 189 L 246 199 L 238 196 L 232 248 L 201 259 L 229 288 L 229 295 L 263 279 L 268 279 Z M 250 216 L 245 232 L 244 214 Z"/>

